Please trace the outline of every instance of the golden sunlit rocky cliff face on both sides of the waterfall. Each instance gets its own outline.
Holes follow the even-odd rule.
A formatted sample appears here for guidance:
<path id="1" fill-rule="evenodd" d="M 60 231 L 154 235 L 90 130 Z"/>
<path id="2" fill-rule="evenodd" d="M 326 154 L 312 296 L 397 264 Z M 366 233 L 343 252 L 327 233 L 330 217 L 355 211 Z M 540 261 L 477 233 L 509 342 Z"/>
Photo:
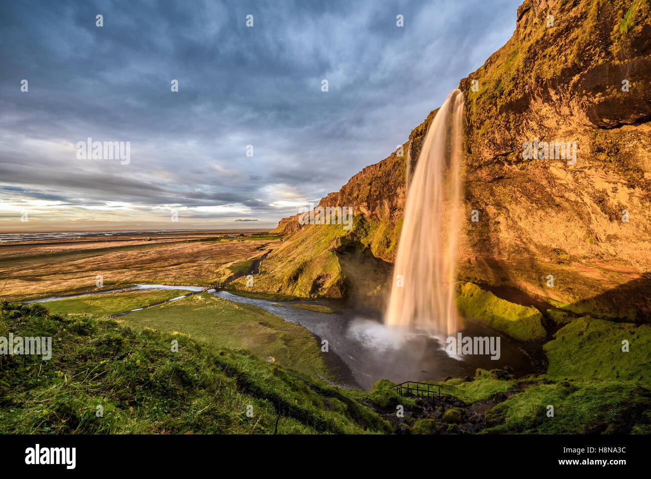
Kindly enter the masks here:
<path id="1" fill-rule="evenodd" d="M 505 46 L 459 85 L 466 99 L 460 278 L 577 310 L 591 300 L 591 307 L 648 318 L 649 2 L 527 0 L 516 25 Z M 411 171 L 434 115 L 404 145 Z M 576 161 L 568 165 L 554 148 L 523 158 L 525 142 L 575 142 Z M 355 206 L 370 222 L 396 225 L 407 168 L 406 157 L 393 153 L 320 206 Z M 297 220 L 281 220 L 278 230 L 298 230 Z"/>

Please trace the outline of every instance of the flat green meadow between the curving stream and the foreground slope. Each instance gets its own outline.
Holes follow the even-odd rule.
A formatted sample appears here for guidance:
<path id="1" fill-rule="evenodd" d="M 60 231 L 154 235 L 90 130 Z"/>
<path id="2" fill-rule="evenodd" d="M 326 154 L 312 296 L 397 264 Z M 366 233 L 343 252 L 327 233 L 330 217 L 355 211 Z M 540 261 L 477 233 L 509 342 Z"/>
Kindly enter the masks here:
<path id="1" fill-rule="evenodd" d="M 135 329 L 176 331 L 221 348 L 247 349 L 261 358 L 274 357 L 282 366 L 312 377 L 320 374 L 337 379 L 310 331 L 253 305 L 210 294 L 201 295 L 201 299 L 193 295 L 120 319 Z"/>

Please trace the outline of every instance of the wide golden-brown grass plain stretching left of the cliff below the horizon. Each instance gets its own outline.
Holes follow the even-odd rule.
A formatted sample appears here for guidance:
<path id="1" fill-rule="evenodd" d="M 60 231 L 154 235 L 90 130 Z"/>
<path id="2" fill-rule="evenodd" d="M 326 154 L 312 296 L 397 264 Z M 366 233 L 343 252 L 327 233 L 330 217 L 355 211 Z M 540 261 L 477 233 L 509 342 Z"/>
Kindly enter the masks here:
<path id="1" fill-rule="evenodd" d="M 222 282 L 232 274 L 227 268 L 260 254 L 260 241 L 137 241 L 129 245 L 98 248 L 92 243 L 50 253 L 29 253 L 10 248 L 0 256 L 3 299 L 18 301 L 72 292 L 96 291 L 97 276 L 105 289 L 128 284 L 191 284 Z"/>

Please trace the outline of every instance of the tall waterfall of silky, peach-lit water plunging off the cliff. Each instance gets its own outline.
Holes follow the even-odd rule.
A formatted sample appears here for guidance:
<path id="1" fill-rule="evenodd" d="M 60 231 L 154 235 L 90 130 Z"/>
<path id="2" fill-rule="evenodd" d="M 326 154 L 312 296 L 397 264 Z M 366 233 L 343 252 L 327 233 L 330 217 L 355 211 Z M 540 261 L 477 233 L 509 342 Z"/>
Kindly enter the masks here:
<path id="1" fill-rule="evenodd" d="M 422 143 L 408 181 L 387 325 L 450 335 L 459 329 L 454 302 L 460 218 L 464 95 L 450 92 Z"/>

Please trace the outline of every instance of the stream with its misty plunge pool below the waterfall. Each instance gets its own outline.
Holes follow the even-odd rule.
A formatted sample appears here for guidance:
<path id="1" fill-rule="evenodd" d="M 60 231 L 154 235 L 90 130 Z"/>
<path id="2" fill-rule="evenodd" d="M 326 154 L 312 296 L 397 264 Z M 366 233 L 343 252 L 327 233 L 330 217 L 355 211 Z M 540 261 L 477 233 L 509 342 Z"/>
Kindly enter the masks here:
<path id="1" fill-rule="evenodd" d="M 197 294 L 201 286 L 168 286 L 165 284 L 137 284 L 132 290 L 184 290 L 189 292 L 161 301 L 167 303 Z M 301 300 L 301 301 L 267 301 L 231 294 L 223 290 L 208 290 L 236 303 L 255 305 L 283 318 L 286 321 L 298 323 L 318 336 L 319 343 L 328 342 L 328 354 L 331 354 L 329 365 L 335 366 L 342 387 L 361 387 L 370 390 L 378 379 L 389 379 L 395 383 L 403 381 L 441 381 L 447 376 L 475 376 L 477 368 L 493 369 L 511 366 L 516 376 L 535 372 L 534 361 L 523 348 L 522 344 L 502 335 L 500 338 L 500 357 L 491 359 L 484 355 L 449 355 L 445 351 L 445 338 L 434 336 L 427 331 L 412 329 L 411 331 L 396 330 L 381 323 L 381 319 L 368 313 L 361 313 L 346 307 L 337 300 Z M 25 303 L 45 303 L 58 299 L 86 297 L 90 295 L 107 294 L 107 292 L 79 294 L 72 296 L 51 296 L 42 299 L 32 299 Z M 156 303 L 156 305 L 161 304 Z M 322 313 L 292 307 L 291 305 L 324 305 L 336 310 L 335 313 Z M 151 307 L 154 305 L 148 305 Z M 124 316 L 130 312 L 114 314 L 113 317 Z M 463 336 L 496 336 L 491 329 L 465 321 L 462 328 Z"/>

